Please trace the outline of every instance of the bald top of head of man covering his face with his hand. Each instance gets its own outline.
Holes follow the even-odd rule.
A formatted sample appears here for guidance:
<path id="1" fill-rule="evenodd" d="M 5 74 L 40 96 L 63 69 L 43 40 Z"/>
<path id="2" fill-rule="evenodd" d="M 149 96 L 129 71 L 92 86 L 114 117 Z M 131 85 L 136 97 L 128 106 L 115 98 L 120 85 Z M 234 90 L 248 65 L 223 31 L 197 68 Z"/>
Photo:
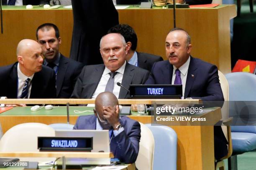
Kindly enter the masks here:
<path id="1" fill-rule="evenodd" d="M 102 92 L 100 93 L 95 100 L 95 109 L 96 111 L 103 106 L 116 106 L 118 105 L 118 99 L 111 92 Z"/>

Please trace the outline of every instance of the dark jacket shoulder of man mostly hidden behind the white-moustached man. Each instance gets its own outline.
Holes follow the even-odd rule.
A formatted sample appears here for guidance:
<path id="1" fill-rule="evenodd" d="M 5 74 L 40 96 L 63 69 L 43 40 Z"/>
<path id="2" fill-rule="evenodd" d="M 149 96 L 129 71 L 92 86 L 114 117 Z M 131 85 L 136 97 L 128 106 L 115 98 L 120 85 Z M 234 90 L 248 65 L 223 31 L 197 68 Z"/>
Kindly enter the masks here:
<path id="1" fill-rule="evenodd" d="M 137 52 L 137 51 L 136 51 Z M 163 61 L 163 58 L 157 55 L 137 52 L 138 55 L 138 67 L 151 71 L 151 68 L 155 62 Z"/>

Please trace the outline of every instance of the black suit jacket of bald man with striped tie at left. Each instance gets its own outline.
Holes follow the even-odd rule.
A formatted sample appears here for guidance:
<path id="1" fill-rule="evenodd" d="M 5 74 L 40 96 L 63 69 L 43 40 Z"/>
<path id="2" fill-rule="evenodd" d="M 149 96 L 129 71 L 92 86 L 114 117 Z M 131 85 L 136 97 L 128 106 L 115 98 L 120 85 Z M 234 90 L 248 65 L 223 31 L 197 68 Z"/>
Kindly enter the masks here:
<path id="1" fill-rule="evenodd" d="M 5 67 L 0 67 L 0 96 L 17 98 L 18 92 L 18 62 Z M 55 98 L 55 74 L 54 70 L 42 66 L 42 70 L 36 72 L 31 81 L 29 98 Z"/>

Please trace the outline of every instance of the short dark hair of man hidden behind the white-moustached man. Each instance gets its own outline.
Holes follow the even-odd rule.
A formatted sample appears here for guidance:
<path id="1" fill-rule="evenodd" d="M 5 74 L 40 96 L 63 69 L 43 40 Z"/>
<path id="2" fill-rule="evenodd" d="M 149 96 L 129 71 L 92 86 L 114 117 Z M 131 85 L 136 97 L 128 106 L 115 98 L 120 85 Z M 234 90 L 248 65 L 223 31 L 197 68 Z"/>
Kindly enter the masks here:
<path id="1" fill-rule="evenodd" d="M 131 42 L 132 44 L 131 49 L 133 51 L 136 50 L 138 38 L 135 31 L 130 25 L 127 25 L 127 24 L 115 25 L 114 27 L 110 28 L 110 30 L 108 30 L 108 33 L 119 33 L 123 35 L 126 43 Z"/>

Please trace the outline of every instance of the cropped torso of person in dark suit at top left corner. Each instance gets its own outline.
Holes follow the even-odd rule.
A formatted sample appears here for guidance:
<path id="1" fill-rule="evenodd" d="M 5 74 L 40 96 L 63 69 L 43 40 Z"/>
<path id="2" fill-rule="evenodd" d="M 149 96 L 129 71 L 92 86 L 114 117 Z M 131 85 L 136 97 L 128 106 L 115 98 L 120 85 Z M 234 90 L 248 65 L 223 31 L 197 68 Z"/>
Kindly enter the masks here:
<path id="1" fill-rule="evenodd" d="M 49 4 L 49 2 L 50 0 L 2 0 L 3 5 L 40 5 Z"/>

